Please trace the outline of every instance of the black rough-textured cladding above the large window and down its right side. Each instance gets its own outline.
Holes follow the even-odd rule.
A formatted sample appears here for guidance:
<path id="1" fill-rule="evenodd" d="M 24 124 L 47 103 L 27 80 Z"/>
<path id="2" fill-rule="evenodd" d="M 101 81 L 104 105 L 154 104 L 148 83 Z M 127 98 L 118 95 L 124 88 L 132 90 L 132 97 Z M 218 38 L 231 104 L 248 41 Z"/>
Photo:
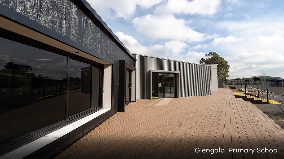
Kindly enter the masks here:
<path id="1" fill-rule="evenodd" d="M 135 66 L 135 58 L 119 44 L 118 38 L 85 0 L 0 0 L 0 3 L 114 61 L 114 83 L 118 83 L 118 60 Z M 118 85 L 114 85 L 113 92 L 118 93 Z M 118 96 L 112 98 L 116 112 Z"/>

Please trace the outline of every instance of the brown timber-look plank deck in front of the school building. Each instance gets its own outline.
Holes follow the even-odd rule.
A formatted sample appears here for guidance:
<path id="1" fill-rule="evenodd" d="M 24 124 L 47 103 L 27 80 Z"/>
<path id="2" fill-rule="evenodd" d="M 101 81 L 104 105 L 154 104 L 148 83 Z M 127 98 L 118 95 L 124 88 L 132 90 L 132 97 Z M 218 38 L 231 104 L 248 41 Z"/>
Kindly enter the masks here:
<path id="1" fill-rule="evenodd" d="M 212 96 L 137 100 L 56 158 L 283 158 L 283 129 L 230 89 Z M 196 153 L 202 148 L 277 148 L 279 153 Z"/>

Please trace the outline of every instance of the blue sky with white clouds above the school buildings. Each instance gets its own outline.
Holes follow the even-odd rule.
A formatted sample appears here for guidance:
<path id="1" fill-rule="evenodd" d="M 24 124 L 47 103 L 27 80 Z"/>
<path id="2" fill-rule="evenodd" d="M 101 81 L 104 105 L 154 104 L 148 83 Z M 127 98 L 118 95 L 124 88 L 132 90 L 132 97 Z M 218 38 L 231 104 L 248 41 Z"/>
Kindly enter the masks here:
<path id="1" fill-rule="evenodd" d="M 284 77 L 283 0 L 87 0 L 131 53 L 199 63 L 216 51 L 227 79 Z"/>

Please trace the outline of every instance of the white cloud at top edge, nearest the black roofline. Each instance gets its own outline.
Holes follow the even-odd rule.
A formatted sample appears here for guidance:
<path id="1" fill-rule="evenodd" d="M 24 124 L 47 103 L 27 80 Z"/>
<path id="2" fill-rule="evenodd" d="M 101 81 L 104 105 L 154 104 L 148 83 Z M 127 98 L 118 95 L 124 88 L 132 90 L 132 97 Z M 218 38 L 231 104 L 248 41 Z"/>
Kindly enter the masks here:
<path id="1" fill-rule="evenodd" d="M 135 12 L 137 5 L 142 8 L 149 8 L 161 3 L 163 0 L 87 0 L 98 12 L 110 14 L 114 10 L 119 18 L 128 19 Z"/>

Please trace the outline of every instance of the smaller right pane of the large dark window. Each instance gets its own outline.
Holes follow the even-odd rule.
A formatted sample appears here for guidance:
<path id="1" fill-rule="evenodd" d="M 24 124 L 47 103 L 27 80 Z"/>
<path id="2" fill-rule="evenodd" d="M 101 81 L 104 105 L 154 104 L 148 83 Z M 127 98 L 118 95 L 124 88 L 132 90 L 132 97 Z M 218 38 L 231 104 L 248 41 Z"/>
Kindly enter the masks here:
<path id="1" fill-rule="evenodd" d="M 69 116 L 99 107 L 99 67 L 73 59 L 69 65 Z"/>

